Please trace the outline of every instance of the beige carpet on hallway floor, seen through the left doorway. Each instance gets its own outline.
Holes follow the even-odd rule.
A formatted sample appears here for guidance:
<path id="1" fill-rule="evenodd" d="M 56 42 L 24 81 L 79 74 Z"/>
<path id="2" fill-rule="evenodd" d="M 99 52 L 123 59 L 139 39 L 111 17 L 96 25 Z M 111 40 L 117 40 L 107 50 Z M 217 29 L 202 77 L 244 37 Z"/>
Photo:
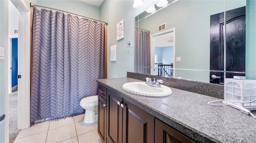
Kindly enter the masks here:
<path id="1" fill-rule="evenodd" d="M 18 130 L 18 91 L 9 94 L 9 143 L 13 143 Z"/>

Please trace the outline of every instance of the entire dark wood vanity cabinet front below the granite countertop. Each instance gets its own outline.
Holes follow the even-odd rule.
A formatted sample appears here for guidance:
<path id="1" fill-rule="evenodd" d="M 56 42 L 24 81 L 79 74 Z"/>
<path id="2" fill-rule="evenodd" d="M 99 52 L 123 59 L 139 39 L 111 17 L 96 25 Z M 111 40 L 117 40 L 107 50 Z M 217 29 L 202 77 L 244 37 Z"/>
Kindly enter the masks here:
<path id="1" fill-rule="evenodd" d="M 103 143 L 194 143 L 111 90 L 98 90 L 98 134 Z"/>

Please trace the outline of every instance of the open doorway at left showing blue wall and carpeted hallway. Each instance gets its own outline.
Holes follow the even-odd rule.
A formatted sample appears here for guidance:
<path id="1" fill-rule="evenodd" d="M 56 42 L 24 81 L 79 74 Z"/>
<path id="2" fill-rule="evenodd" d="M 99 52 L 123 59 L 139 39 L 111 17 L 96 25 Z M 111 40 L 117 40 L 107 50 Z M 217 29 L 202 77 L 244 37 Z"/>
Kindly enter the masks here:
<path id="1" fill-rule="evenodd" d="M 9 66 L 8 66 L 8 115 L 9 115 L 9 142 L 12 143 L 19 133 L 18 130 L 18 9 L 9 2 Z"/>

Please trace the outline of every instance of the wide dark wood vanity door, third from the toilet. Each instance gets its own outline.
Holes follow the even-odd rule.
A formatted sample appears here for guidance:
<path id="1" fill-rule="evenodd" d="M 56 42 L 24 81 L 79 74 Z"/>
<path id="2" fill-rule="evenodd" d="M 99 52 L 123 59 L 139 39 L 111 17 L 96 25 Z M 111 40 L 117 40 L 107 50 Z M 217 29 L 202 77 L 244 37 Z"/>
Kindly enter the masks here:
<path id="1" fill-rule="evenodd" d="M 126 100 L 123 109 L 123 143 L 154 143 L 154 116 Z"/>

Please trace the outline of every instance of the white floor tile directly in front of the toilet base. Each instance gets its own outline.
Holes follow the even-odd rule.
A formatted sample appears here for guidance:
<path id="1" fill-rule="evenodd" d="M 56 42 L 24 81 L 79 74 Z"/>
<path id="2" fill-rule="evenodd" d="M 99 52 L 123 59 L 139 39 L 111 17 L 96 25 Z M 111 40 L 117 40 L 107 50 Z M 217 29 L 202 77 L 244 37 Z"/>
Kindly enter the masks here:
<path id="1" fill-rule="evenodd" d="M 95 129 L 97 129 L 97 123 L 84 123 L 84 121 L 80 121 L 75 123 L 76 125 L 76 133 L 77 135 L 81 135 L 83 133 L 88 133 L 90 131 L 93 131 Z"/>

